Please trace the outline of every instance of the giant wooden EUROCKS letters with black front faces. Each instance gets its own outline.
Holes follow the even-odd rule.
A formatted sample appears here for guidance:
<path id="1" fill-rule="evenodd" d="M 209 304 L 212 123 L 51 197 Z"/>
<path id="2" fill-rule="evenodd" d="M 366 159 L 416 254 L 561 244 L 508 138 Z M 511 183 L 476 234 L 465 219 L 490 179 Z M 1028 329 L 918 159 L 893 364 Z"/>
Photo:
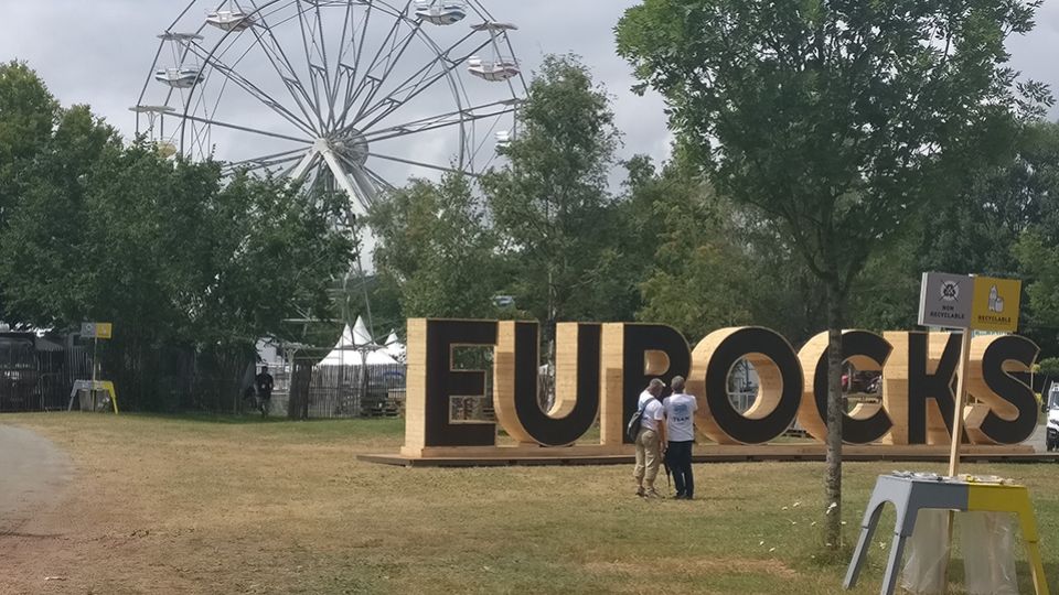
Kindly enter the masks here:
<path id="1" fill-rule="evenodd" d="M 599 444 L 576 444 L 555 456 L 628 454 L 624 426 L 652 378 L 670 383 L 687 378 L 699 399 L 696 426 L 718 444 L 764 444 L 783 434 L 795 418 L 813 437 L 826 440 L 827 335 L 799 354 L 773 331 L 725 328 L 694 349 L 675 329 L 655 324 L 579 324 L 556 327 L 555 401 L 538 403 L 541 344 L 535 322 L 408 321 L 406 457 L 499 455 L 496 425 L 452 419 L 453 399 L 490 391 L 485 371 L 457 369 L 457 347 L 492 348 L 492 400 L 496 419 L 522 448 L 575 445 L 598 419 Z M 863 403 L 843 419 L 849 444 L 949 445 L 955 399 L 953 378 L 961 357 L 960 335 L 864 331 L 842 335 L 845 361 L 860 370 L 882 370 L 882 402 Z M 978 337 L 970 349 L 964 440 L 982 445 L 1018 444 L 1036 429 L 1037 402 L 1025 376 L 1038 354 L 1015 335 Z M 746 412 L 729 399 L 732 368 L 747 359 L 758 375 L 758 394 Z M 531 448 L 532 447 L 532 448 Z"/>

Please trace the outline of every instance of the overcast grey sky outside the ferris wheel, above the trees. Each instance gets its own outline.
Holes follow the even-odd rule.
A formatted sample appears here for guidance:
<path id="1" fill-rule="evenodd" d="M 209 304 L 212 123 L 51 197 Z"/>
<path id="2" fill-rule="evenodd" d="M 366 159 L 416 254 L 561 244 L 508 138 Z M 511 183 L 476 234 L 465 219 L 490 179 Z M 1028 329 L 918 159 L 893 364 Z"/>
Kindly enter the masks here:
<path id="1" fill-rule="evenodd" d="M 614 54 L 613 26 L 637 0 L 481 1 L 498 20 L 518 25 L 511 39 L 526 71 L 546 53 L 584 57 L 614 97 L 622 156 L 664 159 L 670 134 L 663 102 L 632 95 L 630 68 Z M 148 79 L 156 36 L 185 6 L 185 0 L 0 0 L 0 60 L 29 62 L 64 105 L 89 104 L 131 136 L 135 119 L 128 108 Z M 1016 68 L 1059 88 L 1059 3 L 1046 3 L 1037 30 L 1013 40 L 1009 48 Z M 224 156 L 225 148 L 217 152 Z"/>

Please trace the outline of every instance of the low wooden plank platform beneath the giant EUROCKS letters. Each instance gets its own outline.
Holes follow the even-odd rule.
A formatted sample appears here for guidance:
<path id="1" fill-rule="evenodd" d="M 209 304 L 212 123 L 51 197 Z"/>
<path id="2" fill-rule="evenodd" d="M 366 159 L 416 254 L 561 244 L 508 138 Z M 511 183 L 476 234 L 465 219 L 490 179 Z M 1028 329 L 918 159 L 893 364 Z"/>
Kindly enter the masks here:
<path id="1" fill-rule="evenodd" d="M 402 467 L 496 467 L 515 465 L 632 465 L 632 451 L 605 454 L 591 447 L 532 448 L 527 446 L 446 448 L 443 456 L 402 454 L 359 455 L 357 461 Z M 777 444 L 763 446 L 696 446 L 695 463 L 822 462 L 823 444 Z M 938 446 L 846 446 L 845 462 L 944 463 L 949 451 Z M 969 446 L 964 463 L 1059 463 L 1059 453 L 1037 453 L 1030 446 Z"/>

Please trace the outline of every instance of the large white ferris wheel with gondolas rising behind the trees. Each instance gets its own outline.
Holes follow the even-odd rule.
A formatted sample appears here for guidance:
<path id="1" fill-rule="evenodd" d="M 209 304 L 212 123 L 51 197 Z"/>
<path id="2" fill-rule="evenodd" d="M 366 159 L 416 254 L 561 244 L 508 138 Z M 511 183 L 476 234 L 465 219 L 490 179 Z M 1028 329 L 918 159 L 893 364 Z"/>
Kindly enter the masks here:
<path id="1" fill-rule="evenodd" d="M 344 192 L 477 175 L 516 133 L 526 86 L 509 32 L 468 0 L 192 0 L 159 35 L 137 132 Z"/>

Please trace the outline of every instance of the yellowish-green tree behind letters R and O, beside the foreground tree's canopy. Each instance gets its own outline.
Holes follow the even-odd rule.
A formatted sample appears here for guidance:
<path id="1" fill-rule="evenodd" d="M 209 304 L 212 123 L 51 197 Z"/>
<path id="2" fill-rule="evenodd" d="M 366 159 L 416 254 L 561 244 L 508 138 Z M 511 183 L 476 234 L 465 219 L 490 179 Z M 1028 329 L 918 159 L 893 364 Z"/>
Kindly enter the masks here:
<path id="1" fill-rule="evenodd" d="M 670 324 L 693 340 L 745 324 L 774 328 L 794 344 L 815 334 L 821 291 L 774 226 L 714 192 L 681 150 L 657 174 L 630 180 L 622 208 L 651 237 L 640 320 Z"/>

